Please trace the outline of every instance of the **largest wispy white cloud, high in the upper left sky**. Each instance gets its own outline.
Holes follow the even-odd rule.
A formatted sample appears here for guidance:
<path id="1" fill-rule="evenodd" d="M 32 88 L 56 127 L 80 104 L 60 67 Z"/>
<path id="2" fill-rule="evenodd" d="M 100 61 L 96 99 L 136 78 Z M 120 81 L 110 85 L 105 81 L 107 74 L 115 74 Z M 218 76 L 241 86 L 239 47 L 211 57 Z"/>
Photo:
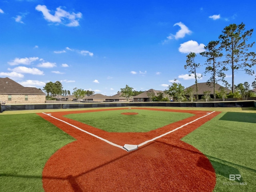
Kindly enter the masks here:
<path id="1" fill-rule="evenodd" d="M 69 27 L 79 26 L 78 20 L 82 18 L 82 13 L 69 13 L 60 7 L 56 8 L 54 15 L 50 14 L 50 10 L 45 5 L 36 6 L 36 10 L 41 11 L 48 22 L 61 23 Z"/>

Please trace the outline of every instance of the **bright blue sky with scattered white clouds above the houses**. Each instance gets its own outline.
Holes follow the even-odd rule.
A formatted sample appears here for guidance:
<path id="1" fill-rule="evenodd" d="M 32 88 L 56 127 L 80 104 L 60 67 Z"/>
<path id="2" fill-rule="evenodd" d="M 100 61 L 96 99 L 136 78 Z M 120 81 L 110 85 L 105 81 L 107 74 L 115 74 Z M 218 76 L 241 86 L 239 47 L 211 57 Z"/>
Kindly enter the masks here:
<path id="1" fill-rule="evenodd" d="M 186 56 L 196 53 L 198 82 L 206 82 L 199 53 L 230 24 L 255 28 L 255 8 L 255 0 L 0 0 L 0 77 L 41 89 L 60 81 L 71 93 L 107 96 L 126 84 L 166 90 L 174 79 L 186 88 L 195 83 Z M 234 81 L 254 78 L 237 71 Z"/>

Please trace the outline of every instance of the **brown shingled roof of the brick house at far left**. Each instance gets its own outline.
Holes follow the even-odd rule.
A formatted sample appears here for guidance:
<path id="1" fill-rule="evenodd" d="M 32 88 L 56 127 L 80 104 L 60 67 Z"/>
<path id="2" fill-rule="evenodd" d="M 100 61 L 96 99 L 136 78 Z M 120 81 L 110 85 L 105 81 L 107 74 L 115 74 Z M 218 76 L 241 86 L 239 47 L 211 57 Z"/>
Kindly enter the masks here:
<path id="1" fill-rule="evenodd" d="M 0 94 L 33 94 L 45 95 L 36 87 L 24 87 L 10 78 L 0 78 Z"/>

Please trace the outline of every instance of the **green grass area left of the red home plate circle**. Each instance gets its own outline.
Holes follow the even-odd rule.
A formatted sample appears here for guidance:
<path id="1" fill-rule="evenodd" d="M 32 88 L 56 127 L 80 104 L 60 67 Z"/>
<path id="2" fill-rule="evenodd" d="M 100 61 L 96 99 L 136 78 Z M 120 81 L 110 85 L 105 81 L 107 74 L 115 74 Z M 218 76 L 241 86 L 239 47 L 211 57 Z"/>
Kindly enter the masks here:
<path id="1" fill-rule="evenodd" d="M 36 114 L 1 115 L 0 125 L 0 191 L 44 191 L 44 164 L 74 138 Z"/>

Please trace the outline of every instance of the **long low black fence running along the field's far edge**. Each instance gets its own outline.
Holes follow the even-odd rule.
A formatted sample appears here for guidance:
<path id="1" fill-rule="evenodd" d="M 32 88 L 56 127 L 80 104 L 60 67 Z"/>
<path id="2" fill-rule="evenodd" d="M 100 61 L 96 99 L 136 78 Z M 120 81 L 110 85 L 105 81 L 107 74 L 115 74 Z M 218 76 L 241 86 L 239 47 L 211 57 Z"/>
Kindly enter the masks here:
<path id="1" fill-rule="evenodd" d="M 34 109 L 76 109 L 97 107 L 256 107 L 256 101 L 226 102 L 111 102 L 111 103 L 54 103 L 54 104 L 1 104 L 1 112 Z"/>

